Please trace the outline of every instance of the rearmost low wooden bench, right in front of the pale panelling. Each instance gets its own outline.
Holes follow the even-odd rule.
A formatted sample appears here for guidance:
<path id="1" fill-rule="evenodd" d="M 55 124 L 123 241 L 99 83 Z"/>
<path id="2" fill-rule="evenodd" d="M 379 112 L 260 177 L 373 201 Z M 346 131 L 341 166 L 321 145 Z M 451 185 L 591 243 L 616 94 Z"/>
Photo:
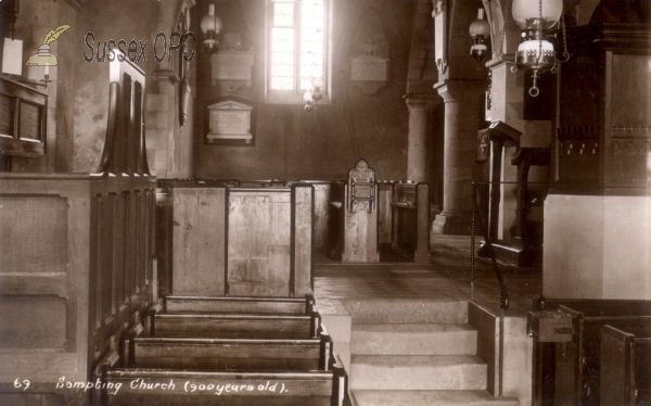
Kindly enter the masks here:
<path id="1" fill-rule="evenodd" d="M 314 304 L 311 294 L 304 299 L 167 296 L 165 312 L 306 315 L 310 314 Z"/>

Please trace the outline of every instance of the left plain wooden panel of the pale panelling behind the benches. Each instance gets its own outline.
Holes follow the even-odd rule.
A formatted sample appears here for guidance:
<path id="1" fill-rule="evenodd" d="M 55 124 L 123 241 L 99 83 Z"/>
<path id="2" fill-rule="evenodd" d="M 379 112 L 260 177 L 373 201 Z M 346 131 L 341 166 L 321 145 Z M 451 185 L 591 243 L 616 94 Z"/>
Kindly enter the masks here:
<path id="1" fill-rule="evenodd" d="M 175 294 L 225 294 L 226 193 L 225 188 L 174 189 Z"/>

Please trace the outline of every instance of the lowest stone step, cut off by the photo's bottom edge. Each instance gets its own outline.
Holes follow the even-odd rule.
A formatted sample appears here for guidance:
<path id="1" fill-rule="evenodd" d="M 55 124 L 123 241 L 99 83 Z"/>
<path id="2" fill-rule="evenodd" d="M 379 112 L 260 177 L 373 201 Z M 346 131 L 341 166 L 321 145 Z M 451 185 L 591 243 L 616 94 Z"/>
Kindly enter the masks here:
<path id="1" fill-rule="evenodd" d="M 520 406 L 512 397 L 487 391 L 353 391 L 357 406 Z"/>

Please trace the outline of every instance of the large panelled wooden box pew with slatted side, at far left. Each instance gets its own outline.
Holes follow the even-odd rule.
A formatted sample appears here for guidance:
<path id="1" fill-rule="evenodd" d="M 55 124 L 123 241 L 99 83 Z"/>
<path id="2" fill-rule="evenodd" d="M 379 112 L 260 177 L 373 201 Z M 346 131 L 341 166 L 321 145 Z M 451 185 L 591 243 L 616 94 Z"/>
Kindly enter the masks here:
<path id="1" fill-rule="evenodd" d="M 0 175 L 0 404 L 87 402 L 56 384 L 88 381 L 152 302 L 155 185 Z"/>

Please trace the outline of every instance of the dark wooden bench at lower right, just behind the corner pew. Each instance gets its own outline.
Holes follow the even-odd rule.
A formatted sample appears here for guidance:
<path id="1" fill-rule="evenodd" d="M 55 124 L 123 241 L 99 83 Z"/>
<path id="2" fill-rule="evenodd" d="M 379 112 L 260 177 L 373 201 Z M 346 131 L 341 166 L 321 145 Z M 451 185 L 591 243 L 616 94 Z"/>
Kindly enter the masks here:
<path id="1" fill-rule="evenodd" d="M 556 405 L 600 405 L 601 329 L 647 328 L 651 302 L 547 300 L 545 309 L 569 315 L 572 332 L 565 342 L 535 342 L 534 398 L 553 398 Z"/>

